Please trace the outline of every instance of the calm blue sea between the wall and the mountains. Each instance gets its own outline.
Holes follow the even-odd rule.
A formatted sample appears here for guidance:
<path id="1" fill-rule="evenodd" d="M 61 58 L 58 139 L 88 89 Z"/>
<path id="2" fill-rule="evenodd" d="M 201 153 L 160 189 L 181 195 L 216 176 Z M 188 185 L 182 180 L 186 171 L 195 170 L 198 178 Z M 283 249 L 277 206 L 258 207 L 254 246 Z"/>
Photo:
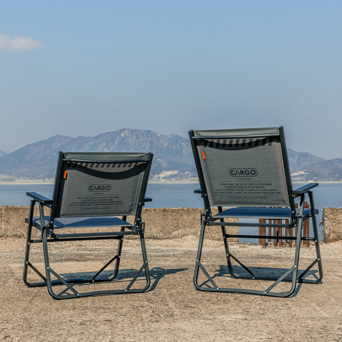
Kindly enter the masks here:
<path id="1" fill-rule="evenodd" d="M 292 183 L 293 189 L 307 183 Z M 152 202 L 146 202 L 145 208 L 203 208 L 201 195 L 194 194 L 194 190 L 199 188 L 199 183 L 149 183 L 147 185 L 146 196 L 152 198 Z M 324 182 L 313 188 L 314 202 L 319 214 L 316 216 L 317 224 L 321 222 L 323 207 L 342 207 L 342 182 Z M 1 206 L 29 206 L 30 197 L 27 192 L 36 192 L 45 197 L 51 198 L 53 184 L 1 184 L 0 183 L 0 205 Z M 311 227 L 312 228 L 312 227 Z M 320 231 L 320 228 L 318 229 Z M 248 232 L 246 231 L 246 234 Z M 312 234 L 312 232 L 311 232 Z M 320 233 L 319 233 L 320 235 Z M 252 239 L 240 239 L 243 242 L 257 242 Z M 321 240 L 321 238 L 320 238 Z"/>

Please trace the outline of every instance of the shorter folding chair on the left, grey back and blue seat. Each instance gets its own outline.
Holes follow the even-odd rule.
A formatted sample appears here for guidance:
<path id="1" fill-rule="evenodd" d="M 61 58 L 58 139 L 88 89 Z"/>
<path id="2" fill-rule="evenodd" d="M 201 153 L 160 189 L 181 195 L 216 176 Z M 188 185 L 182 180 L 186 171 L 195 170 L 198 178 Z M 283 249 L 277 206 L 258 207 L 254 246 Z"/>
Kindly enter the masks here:
<path id="1" fill-rule="evenodd" d="M 152 153 L 59 153 L 52 200 L 37 193 L 27 193 L 32 198 L 29 216 L 25 219 L 28 230 L 23 279 L 27 286 L 47 286 L 49 294 L 56 299 L 143 292 L 148 289 L 150 275 L 144 240 L 145 222 L 141 220 L 141 212 L 144 202 L 152 201 L 145 197 L 152 158 Z M 39 216 L 34 217 L 36 202 L 39 206 Z M 44 216 L 44 207 L 50 208 L 49 216 Z M 128 215 L 134 217 L 133 224 L 126 221 Z M 31 239 L 32 227 L 39 229 L 40 239 Z M 67 232 L 61 230 L 65 228 L 68 228 Z M 75 284 L 109 282 L 116 278 L 125 235 L 139 235 L 142 250 L 142 266 L 127 287 L 113 289 L 114 286 L 111 286 L 109 290 L 82 293 L 76 290 Z M 101 269 L 92 272 L 90 276 L 72 278 L 72 274 L 58 274 L 50 266 L 48 245 L 51 242 L 100 239 L 117 239 L 117 252 Z M 34 243 L 42 243 L 46 276 L 29 261 L 30 246 Z M 101 277 L 105 268 L 114 261 L 113 273 L 109 277 Z M 28 267 L 43 281 L 28 282 Z M 88 272 L 83 273 L 87 274 Z M 132 288 L 139 276 L 145 277 L 146 285 L 139 289 Z M 52 280 L 51 277 L 55 279 Z M 56 285 L 65 287 L 62 286 L 63 290 L 56 294 L 53 292 Z"/>

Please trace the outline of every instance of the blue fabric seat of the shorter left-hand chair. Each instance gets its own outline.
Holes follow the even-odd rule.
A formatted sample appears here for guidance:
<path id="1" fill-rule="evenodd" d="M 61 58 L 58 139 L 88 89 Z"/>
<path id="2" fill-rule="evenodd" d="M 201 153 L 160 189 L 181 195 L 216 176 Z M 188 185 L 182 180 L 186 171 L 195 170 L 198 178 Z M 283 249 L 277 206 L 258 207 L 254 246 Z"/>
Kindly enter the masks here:
<path id="1" fill-rule="evenodd" d="M 45 222 L 49 222 L 50 217 L 44 216 Z M 26 223 L 28 222 L 28 218 L 25 219 Z M 40 226 L 40 217 L 34 216 L 33 225 Z M 123 221 L 116 216 L 97 216 L 97 217 L 66 217 L 66 218 L 58 218 L 53 221 L 54 229 L 61 228 L 93 228 L 93 227 L 133 227 L 132 224 Z"/>

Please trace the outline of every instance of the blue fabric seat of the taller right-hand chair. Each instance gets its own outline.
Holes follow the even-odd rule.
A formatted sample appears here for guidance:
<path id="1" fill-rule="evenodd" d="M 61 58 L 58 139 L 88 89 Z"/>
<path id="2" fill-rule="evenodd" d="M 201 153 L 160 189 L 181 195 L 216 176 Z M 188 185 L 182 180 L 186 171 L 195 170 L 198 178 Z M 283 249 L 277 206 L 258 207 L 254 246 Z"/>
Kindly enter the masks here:
<path id="1" fill-rule="evenodd" d="M 299 209 L 296 209 L 297 214 Z M 315 209 L 315 214 L 318 210 Z M 304 209 L 304 218 L 311 215 L 311 209 Z M 290 208 L 272 208 L 272 207 L 236 207 L 228 208 L 221 213 L 212 216 L 213 219 L 223 218 L 242 218 L 242 219 L 269 219 L 286 220 L 291 219 Z"/>

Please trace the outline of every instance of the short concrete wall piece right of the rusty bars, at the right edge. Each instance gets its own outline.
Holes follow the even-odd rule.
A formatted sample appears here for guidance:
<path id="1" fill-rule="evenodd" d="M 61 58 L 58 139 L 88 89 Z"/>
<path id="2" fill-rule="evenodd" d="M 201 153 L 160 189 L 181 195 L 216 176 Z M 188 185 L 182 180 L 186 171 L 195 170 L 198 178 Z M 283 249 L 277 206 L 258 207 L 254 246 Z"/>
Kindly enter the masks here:
<path id="1" fill-rule="evenodd" d="M 342 240 L 342 208 L 323 208 L 323 242 Z"/>

